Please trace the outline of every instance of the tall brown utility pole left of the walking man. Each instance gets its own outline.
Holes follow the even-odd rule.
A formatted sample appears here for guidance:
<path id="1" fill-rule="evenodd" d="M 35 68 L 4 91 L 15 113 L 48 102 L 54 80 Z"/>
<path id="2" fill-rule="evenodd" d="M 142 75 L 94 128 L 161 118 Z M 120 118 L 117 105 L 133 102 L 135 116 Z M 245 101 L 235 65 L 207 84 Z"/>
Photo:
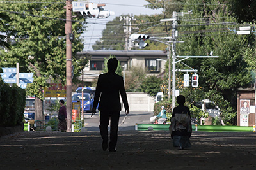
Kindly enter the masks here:
<path id="1" fill-rule="evenodd" d="M 72 32 L 72 0 L 66 1 L 66 76 L 67 76 L 67 132 L 71 132 L 72 125 L 72 43 L 69 39 L 69 35 Z"/>

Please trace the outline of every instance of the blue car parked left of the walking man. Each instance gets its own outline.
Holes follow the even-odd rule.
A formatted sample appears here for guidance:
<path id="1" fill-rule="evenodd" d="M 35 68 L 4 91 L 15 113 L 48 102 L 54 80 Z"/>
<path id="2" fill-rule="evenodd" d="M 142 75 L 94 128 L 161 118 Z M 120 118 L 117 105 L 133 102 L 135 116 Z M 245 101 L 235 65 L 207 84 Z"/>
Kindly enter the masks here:
<path id="1" fill-rule="evenodd" d="M 84 103 L 82 104 L 82 94 L 77 93 L 72 96 L 72 103 L 73 102 L 80 102 L 81 103 L 81 110 L 83 106 L 83 110 L 87 112 L 92 112 L 93 108 L 93 97 L 89 93 L 84 93 Z"/>

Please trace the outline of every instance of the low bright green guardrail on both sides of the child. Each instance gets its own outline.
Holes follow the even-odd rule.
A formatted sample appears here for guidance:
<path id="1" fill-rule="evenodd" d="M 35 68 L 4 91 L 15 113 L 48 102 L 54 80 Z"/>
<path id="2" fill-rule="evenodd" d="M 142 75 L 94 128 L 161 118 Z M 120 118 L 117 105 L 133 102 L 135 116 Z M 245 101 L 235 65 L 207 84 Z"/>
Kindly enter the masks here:
<path id="1" fill-rule="evenodd" d="M 159 124 L 136 124 L 135 129 L 138 131 L 147 131 L 148 127 L 150 129 L 159 131 L 159 130 L 166 130 L 169 131 L 169 124 L 166 125 L 159 125 Z M 196 126 L 192 125 L 192 131 L 196 131 Z M 198 125 L 197 131 L 204 131 L 204 132 L 253 132 L 254 129 L 252 126 L 245 127 L 245 126 L 221 126 L 221 125 Z"/>

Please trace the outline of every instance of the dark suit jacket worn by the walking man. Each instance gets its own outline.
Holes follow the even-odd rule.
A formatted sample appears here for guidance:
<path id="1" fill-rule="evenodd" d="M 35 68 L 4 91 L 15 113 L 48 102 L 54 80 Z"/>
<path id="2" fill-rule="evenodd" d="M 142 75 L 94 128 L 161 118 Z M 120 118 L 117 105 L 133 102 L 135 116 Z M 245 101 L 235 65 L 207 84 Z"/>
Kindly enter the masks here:
<path id="1" fill-rule="evenodd" d="M 124 103 L 125 110 L 129 109 L 127 96 L 124 88 L 122 76 L 108 72 L 101 74 L 98 79 L 93 107 L 96 108 L 100 99 L 100 111 L 121 111 L 120 95 Z"/>

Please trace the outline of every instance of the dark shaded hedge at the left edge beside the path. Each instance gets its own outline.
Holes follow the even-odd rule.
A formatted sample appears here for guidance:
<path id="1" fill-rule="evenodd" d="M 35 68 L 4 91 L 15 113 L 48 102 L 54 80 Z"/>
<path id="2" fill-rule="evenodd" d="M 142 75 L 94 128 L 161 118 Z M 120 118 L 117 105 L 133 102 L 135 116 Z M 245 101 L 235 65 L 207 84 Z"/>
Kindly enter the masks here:
<path id="1" fill-rule="evenodd" d="M 13 85 L 9 87 L 0 80 L 0 126 L 21 125 L 24 118 L 26 92 Z"/>

